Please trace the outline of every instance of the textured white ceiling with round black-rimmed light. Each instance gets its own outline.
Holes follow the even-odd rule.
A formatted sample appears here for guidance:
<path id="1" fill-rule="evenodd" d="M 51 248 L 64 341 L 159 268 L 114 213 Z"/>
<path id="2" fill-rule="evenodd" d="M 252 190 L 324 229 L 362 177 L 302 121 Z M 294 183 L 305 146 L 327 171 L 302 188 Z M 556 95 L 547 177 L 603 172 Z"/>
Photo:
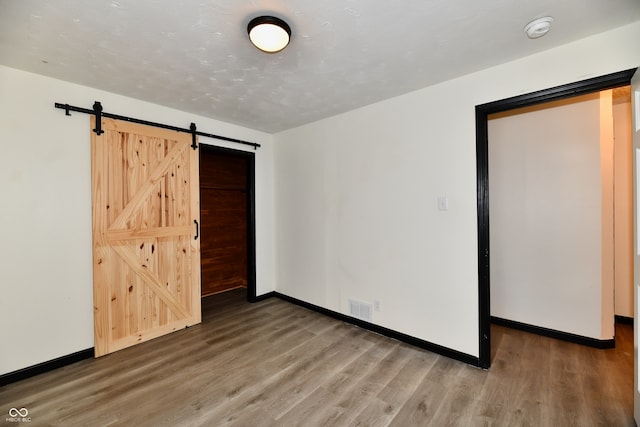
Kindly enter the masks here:
<path id="1" fill-rule="evenodd" d="M 281 53 L 250 44 L 261 14 L 291 26 Z M 0 0 L 0 64 L 278 132 L 637 20 L 639 0 Z"/>

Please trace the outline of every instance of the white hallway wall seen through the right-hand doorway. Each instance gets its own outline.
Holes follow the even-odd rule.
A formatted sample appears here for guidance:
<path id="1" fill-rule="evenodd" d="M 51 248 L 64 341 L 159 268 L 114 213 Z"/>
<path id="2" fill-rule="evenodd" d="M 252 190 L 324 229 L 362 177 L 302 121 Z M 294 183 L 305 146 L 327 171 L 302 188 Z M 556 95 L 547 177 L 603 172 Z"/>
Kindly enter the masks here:
<path id="1" fill-rule="evenodd" d="M 613 338 L 612 135 L 601 141 L 613 117 L 604 110 L 595 93 L 489 120 L 493 316 Z"/>

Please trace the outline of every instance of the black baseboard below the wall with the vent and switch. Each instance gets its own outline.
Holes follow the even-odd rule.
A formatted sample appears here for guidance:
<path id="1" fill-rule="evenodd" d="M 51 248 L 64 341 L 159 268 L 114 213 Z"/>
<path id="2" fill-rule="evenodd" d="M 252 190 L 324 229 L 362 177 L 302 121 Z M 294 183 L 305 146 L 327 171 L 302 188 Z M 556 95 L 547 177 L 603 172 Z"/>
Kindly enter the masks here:
<path id="1" fill-rule="evenodd" d="M 447 347 L 433 344 L 428 341 L 421 340 L 420 338 L 412 337 L 411 335 L 403 334 L 402 332 L 394 331 L 392 329 L 388 329 L 383 326 L 374 325 L 373 323 L 356 319 L 355 317 L 347 316 L 346 314 L 338 313 L 337 311 L 329 310 L 329 309 L 299 300 L 297 298 L 293 298 L 288 295 L 281 294 L 280 292 L 273 292 L 272 296 L 280 298 L 284 301 L 299 305 L 301 307 L 307 308 L 309 310 L 324 314 L 326 316 L 333 317 L 334 319 L 340 320 L 342 322 L 351 323 L 352 325 L 358 326 L 360 328 L 367 329 L 377 334 L 384 335 L 386 337 L 405 342 L 415 347 L 419 347 L 423 350 L 428 350 L 433 353 L 446 356 L 450 359 L 459 360 L 469 365 L 473 365 L 477 367 L 480 366 L 480 361 L 475 356 L 471 356 L 469 354 L 462 353 L 457 350 L 452 350 Z"/>

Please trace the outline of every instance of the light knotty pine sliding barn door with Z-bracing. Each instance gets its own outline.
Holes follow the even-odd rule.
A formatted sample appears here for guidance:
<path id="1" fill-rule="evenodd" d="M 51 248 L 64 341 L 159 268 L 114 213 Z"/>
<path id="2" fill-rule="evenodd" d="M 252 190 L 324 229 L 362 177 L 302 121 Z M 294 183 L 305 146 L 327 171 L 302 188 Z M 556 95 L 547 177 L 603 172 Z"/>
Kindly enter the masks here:
<path id="1" fill-rule="evenodd" d="M 104 118 L 102 129 L 91 133 L 96 357 L 201 321 L 191 135 Z"/>

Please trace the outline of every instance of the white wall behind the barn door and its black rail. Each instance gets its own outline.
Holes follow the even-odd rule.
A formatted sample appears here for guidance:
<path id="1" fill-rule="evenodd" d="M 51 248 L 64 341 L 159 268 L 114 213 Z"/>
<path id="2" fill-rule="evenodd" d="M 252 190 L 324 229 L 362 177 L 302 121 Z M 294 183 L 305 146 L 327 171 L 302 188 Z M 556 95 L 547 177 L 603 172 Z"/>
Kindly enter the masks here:
<path id="1" fill-rule="evenodd" d="M 93 347 L 90 108 L 250 140 L 258 295 L 275 288 L 271 135 L 0 66 L 0 374 Z M 241 148 L 200 138 L 202 143 Z M 252 148 L 249 148 L 252 150 Z"/>

